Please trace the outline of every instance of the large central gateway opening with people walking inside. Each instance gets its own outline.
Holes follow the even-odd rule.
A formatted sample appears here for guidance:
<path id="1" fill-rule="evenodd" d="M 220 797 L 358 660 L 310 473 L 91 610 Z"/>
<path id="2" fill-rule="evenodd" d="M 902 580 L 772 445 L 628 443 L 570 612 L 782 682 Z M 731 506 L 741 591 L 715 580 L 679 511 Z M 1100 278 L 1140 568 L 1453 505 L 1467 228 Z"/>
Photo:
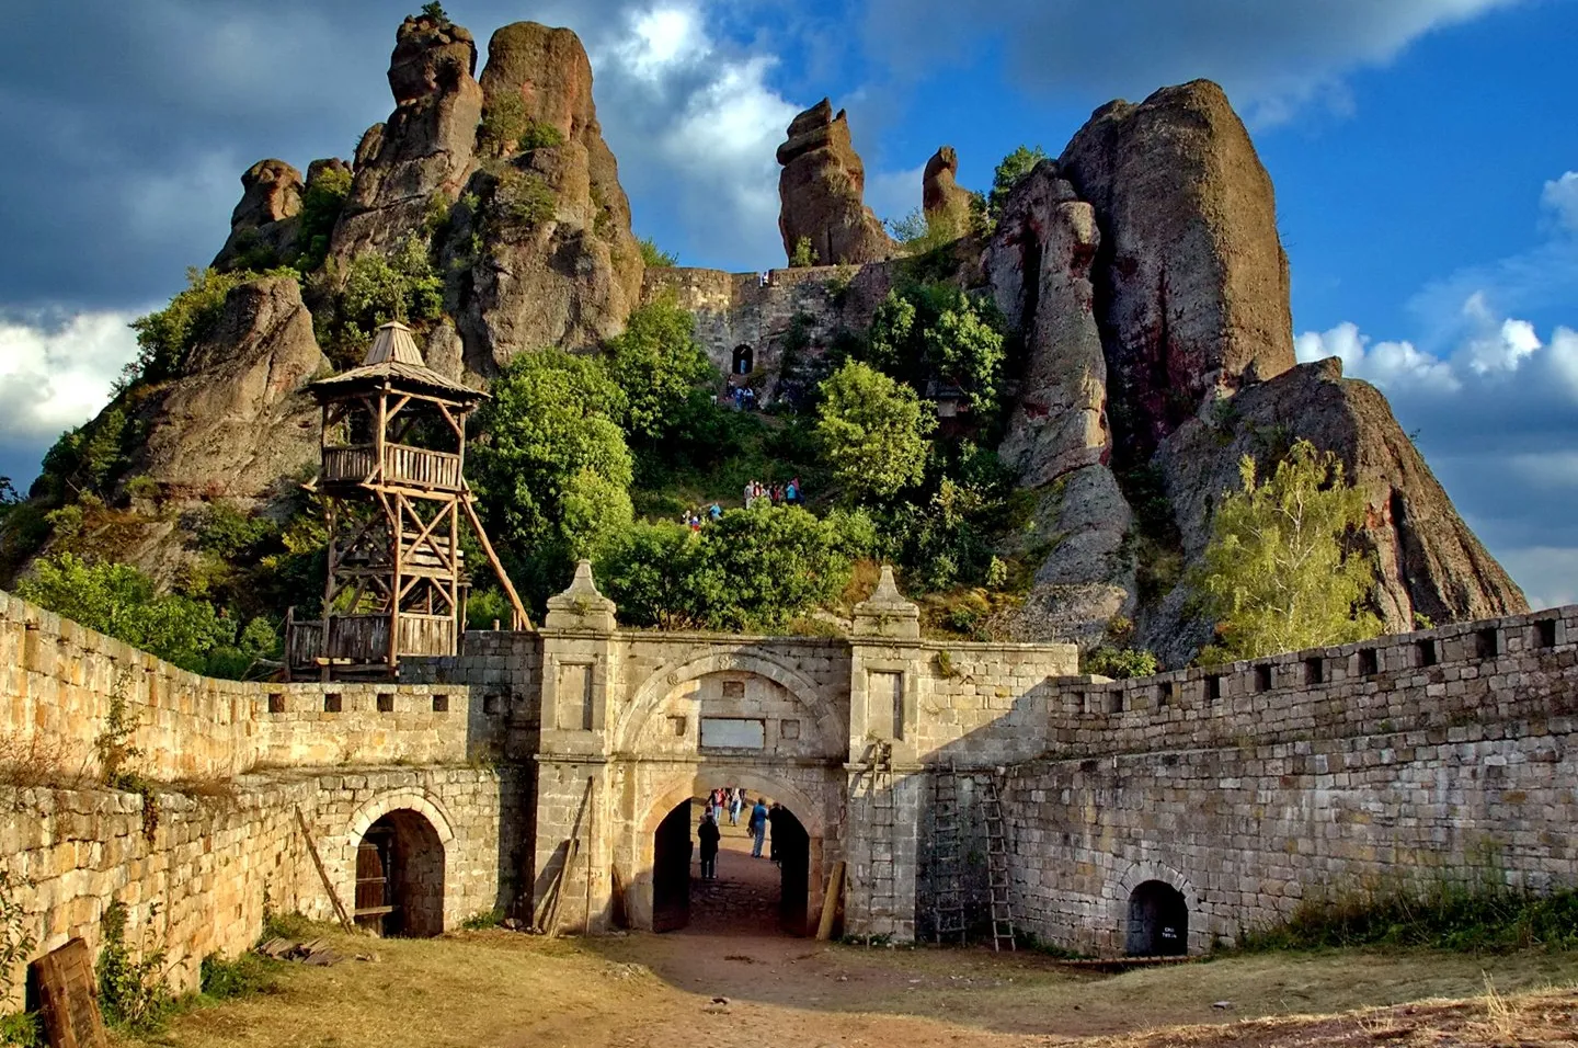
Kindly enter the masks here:
<path id="1" fill-rule="evenodd" d="M 750 833 L 754 797 L 731 824 L 720 818 L 718 851 L 702 868 L 699 830 L 705 800 L 677 803 L 653 832 L 652 930 L 694 928 L 724 934 L 806 934 L 811 835 L 784 805 L 767 802 L 762 852 Z M 705 876 L 704 876 L 705 874 Z"/>

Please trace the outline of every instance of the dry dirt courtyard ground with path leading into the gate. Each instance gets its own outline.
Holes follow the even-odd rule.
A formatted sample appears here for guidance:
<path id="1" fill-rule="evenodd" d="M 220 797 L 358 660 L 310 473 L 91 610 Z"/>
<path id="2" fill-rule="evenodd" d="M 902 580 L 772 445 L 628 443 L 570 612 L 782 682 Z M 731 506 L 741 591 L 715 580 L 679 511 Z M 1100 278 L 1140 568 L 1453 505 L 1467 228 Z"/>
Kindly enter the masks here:
<path id="1" fill-rule="evenodd" d="M 691 926 L 598 938 L 325 933 L 347 956 L 193 1009 L 178 1048 L 1294 1048 L 1578 1043 L 1578 955 L 1231 956 L 1097 974 L 1038 953 L 776 934 L 778 876 L 724 829 Z M 376 958 L 376 960 L 372 960 Z"/>

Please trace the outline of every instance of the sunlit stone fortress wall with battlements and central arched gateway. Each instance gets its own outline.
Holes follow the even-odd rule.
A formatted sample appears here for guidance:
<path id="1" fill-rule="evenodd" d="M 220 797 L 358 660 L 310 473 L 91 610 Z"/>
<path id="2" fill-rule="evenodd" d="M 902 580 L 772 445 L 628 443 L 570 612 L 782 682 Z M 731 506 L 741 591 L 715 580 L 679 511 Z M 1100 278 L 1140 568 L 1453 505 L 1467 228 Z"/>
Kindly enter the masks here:
<path id="1" fill-rule="evenodd" d="M 191 986 L 265 906 L 331 917 L 309 838 L 349 908 L 390 813 L 440 857 L 428 930 L 540 912 L 571 840 L 562 922 L 650 926 L 660 824 L 735 781 L 806 829 L 808 915 L 846 860 L 846 930 L 904 941 L 929 926 L 947 767 L 967 819 L 988 777 L 1002 791 L 1021 928 L 1122 952 L 1131 893 L 1158 882 L 1202 950 L 1311 889 L 1572 882 L 1575 641 L 1564 608 L 1109 682 L 1071 646 L 922 639 L 890 579 L 849 638 L 743 638 L 622 630 L 582 571 L 538 633 L 469 633 L 398 683 L 276 685 L 196 677 L 0 595 L 0 732 L 77 781 L 6 789 L 0 855 L 32 882 L 39 952 L 96 947 L 118 898 Z M 145 795 L 87 784 L 117 693 Z"/>

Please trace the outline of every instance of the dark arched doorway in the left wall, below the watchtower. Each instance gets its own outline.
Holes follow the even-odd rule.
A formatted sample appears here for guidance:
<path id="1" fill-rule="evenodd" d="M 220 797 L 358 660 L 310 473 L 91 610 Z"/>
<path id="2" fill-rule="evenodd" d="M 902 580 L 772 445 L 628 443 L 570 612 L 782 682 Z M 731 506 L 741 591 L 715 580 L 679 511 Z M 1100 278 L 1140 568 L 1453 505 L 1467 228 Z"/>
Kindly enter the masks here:
<path id="1" fill-rule="evenodd" d="M 382 936 L 443 931 L 443 841 L 420 813 L 390 811 L 361 837 L 355 920 Z"/>

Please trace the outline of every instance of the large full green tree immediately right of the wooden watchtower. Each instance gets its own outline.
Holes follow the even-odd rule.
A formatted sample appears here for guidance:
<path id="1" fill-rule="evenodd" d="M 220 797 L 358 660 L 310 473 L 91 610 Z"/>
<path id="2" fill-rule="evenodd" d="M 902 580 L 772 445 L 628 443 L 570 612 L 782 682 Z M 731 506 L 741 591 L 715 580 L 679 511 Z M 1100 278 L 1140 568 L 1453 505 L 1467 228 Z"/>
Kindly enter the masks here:
<path id="1" fill-rule="evenodd" d="M 559 349 L 521 354 L 492 387 L 478 431 L 475 478 L 489 530 L 527 554 L 541 600 L 631 519 L 625 395 L 601 360 Z"/>

